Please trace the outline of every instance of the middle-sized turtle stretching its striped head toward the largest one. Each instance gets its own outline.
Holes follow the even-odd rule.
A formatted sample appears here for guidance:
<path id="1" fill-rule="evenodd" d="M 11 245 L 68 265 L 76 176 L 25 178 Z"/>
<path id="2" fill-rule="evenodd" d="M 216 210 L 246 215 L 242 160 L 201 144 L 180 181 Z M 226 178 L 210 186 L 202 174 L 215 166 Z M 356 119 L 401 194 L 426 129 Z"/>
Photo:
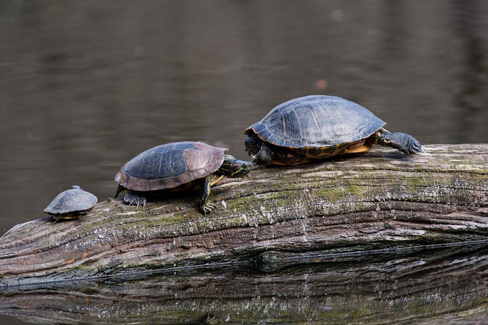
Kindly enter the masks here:
<path id="1" fill-rule="evenodd" d="M 128 189 L 123 200 L 129 205 L 142 204 L 153 191 L 183 191 L 203 187 L 200 209 L 212 212 L 215 204 L 208 201 L 210 187 L 224 176 L 245 176 L 251 170 L 249 161 L 238 160 L 218 148 L 203 142 L 174 142 L 148 149 L 126 162 L 115 175 L 119 183 L 116 198 Z M 157 194 L 160 194 L 157 192 Z"/>

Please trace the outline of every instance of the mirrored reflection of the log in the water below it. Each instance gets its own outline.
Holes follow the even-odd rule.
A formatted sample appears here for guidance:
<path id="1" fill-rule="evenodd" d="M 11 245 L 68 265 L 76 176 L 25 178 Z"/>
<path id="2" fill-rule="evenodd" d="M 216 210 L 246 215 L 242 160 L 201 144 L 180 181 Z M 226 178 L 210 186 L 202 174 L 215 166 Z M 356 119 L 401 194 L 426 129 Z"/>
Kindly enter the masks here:
<path id="1" fill-rule="evenodd" d="M 485 324 L 471 322 L 488 318 L 487 254 L 484 244 L 272 274 L 209 268 L 8 287 L 0 314 L 37 324 Z"/>

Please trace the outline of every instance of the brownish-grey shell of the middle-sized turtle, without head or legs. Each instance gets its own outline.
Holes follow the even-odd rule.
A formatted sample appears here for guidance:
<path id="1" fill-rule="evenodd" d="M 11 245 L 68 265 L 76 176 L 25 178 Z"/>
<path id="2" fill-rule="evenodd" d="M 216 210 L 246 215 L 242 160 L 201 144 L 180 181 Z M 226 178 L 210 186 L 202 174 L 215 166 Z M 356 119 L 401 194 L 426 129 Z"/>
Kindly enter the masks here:
<path id="1" fill-rule="evenodd" d="M 134 191 L 178 187 L 217 171 L 226 148 L 203 142 L 174 142 L 146 150 L 126 162 L 115 181 Z"/>

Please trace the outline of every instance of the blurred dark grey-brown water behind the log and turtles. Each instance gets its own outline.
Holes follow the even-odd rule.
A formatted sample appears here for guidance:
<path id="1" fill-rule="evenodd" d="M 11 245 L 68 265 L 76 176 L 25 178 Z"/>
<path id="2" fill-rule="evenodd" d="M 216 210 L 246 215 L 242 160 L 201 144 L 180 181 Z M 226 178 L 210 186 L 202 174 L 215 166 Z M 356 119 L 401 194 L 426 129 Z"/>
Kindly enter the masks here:
<path id="1" fill-rule="evenodd" d="M 423 144 L 488 142 L 487 1 L 0 2 L 0 234 L 78 184 L 245 127 L 310 94 L 354 100 Z"/>

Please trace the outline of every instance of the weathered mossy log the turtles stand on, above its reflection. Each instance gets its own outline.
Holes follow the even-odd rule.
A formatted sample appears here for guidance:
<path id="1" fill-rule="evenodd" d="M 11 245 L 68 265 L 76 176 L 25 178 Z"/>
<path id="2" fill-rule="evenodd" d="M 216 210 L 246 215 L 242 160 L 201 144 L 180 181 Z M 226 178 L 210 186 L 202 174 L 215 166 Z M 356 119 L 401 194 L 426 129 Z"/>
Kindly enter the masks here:
<path id="1" fill-rule="evenodd" d="M 296 254 L 486 239 L 488 145 L 386 148 L 227 180 L 202 215 L 197 193 L 99 203 L 78 220 L 18 225 L 0 238 L 2 285 Z M 115 189 L 115 185 L 114 185 Z M 224 206 L 227 209 L 224 209 Z"/>

